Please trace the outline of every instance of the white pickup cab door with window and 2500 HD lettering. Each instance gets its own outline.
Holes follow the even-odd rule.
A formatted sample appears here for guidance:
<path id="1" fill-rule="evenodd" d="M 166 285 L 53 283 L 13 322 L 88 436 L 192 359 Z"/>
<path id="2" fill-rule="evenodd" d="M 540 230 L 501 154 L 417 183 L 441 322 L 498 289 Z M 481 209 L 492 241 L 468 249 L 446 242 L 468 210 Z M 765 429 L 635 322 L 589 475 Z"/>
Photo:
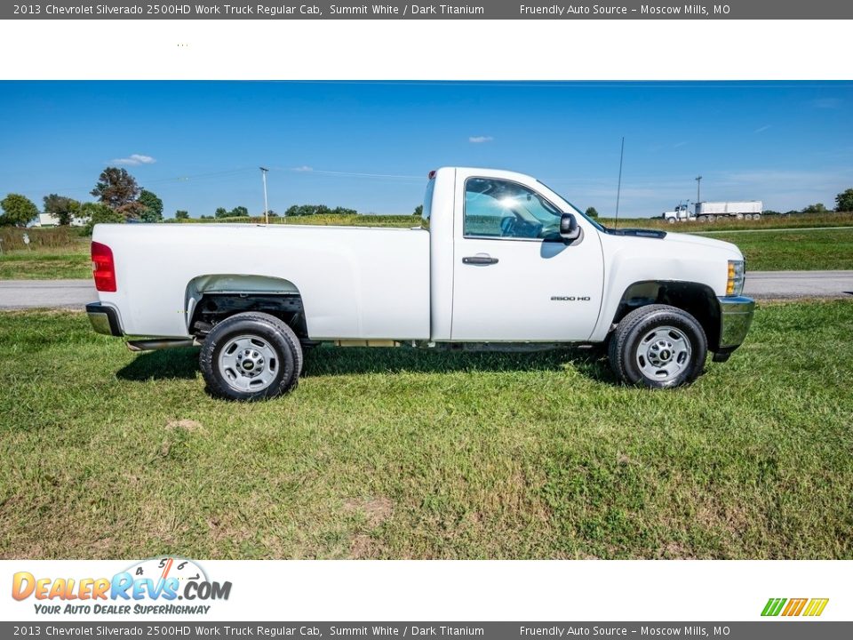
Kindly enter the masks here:
<path id="1" fill-rule="evenodd" d="M 587 340 L 602 306 L 598 232 L 565 244 L 561 209 L 514 180 L 458 175 L 451 340 Z"/>

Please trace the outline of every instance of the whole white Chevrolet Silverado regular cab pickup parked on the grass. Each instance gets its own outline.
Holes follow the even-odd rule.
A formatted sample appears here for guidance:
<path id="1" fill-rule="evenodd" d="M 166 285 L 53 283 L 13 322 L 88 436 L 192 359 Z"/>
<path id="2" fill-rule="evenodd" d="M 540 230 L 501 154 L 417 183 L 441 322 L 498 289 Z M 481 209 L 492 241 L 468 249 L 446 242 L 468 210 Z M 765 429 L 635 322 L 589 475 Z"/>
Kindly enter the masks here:
<path id="1" fill-rule="evenodd" d="M 303 348 L 606 343 L 620 380 L 689 383 L 745 338 L 734 244 L 604 228 L 530 176 L 430 172 L 419 228 L 97 225 L 95 331 L 201 345 L 214 395 L 295 388 Z"/>

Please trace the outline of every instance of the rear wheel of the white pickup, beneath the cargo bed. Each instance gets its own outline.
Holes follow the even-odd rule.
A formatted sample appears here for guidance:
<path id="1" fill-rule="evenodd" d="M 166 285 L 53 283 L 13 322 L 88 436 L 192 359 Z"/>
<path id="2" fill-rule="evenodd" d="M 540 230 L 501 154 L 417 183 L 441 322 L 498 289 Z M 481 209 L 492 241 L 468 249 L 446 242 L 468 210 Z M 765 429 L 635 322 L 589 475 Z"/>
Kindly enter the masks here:
<path id="1" fill-rule="evenodd" d="M 229 353 L 223 354 L 225 348 Z M 242 363 L 228 364 L 250 351 L 253 356 L 249 354 Z M 292 391 L 302 372 L 299 338 L 279 318 L 258 311 L 236 314 L 216 324 L 198 359 L 213 396 L 243 402 Z M 253 371 L 248 370 L 250 364 Z"/>

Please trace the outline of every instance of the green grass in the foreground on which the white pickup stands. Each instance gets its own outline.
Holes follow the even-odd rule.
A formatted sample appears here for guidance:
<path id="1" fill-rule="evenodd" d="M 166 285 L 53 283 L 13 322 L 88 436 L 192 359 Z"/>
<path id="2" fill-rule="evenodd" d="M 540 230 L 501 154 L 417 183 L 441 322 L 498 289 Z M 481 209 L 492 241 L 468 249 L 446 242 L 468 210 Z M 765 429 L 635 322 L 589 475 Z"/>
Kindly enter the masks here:
<path id="1" fill-rule="evenodd" d="M 576 351 L 317 348 L 229 404 L 195 349 L 0 322 L 0 557 L 853 558 L 853 302 L 762 305 L 692 387 Z"/>

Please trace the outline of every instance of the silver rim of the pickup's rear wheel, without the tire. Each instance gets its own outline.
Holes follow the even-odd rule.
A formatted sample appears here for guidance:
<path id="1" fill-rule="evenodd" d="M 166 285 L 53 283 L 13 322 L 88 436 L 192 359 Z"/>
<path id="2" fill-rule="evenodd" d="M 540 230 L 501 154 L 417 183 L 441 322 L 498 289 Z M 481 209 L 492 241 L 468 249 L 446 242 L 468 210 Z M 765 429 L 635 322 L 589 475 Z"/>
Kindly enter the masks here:
<path id="1" fill-rule="evenodd" d="M 219 372 L 237 391 L 255 393 L 269 387 L 278 374 L 278 357 L 266 340 L 240 335 L 219 351 Z"/>

